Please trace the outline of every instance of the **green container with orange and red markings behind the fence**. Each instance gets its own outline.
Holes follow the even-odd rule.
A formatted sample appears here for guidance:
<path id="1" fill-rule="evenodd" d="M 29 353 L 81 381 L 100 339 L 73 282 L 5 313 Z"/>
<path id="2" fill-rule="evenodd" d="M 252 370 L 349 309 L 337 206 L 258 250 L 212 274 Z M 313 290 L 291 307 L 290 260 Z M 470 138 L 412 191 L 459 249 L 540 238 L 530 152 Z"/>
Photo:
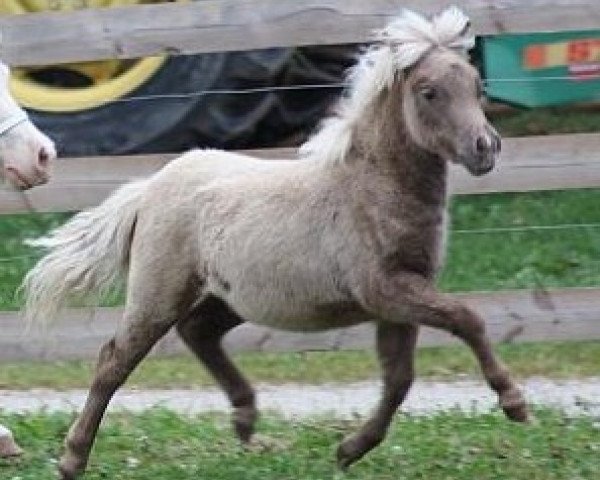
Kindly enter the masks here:
<path id="1" fill-rule="evenodd" d="M 481 40 L 490 98 L 526 107 L 600 100 L 600 30 Z"/>

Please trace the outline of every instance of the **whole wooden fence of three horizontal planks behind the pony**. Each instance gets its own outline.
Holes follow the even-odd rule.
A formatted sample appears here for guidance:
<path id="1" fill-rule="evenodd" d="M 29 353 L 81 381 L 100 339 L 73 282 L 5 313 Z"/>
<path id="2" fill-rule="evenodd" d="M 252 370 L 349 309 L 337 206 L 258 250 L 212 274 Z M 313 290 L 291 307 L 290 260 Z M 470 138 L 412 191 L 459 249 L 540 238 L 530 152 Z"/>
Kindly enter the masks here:
<path id="1" fill-rule="evenodd" d="M 597 0 L 467 0 L 461 7 L 479 34 L 600 28 Z M 401 7 L 437 11 L 431 0 L 205 0 L 72 13 L 0 16 L 0 58 L 12 65 L 40 65 L 154 54 L 191 54 L 369 40 Z M 76 41 L 74 41 L 76 39 Z M 295 151 L 251 152 L 293 158 Z M 149 175 L 173 155 L 64 159 L 53 181 L 31 192 L 0 190 L 0 214 L 77 210 L 100 202 L 115 187 Z M 600 134 L 505 140 L 497 171 L 483 178 L 453 169 L 454 193 L 516 192 L 600 187 Z M 551 206 L 549 206 L 551 208 Z M 600 289 L 464 294 L 484 315 L 496 341 L 600 338 Z M 0 359 L 72 358 L 93 354 L 112 334 L 118 309 L 69 311 L 54 335 L 23 337 L 15 313 L 0 314 Z M 427 331 L 422 343 L 448 342 Z M 242 326 L 233 349 L 311 350 L 362 348 L 370 326 L 320 334 L 284 334 Z M 158 351 L 178 351 L 172 337 Z"/>

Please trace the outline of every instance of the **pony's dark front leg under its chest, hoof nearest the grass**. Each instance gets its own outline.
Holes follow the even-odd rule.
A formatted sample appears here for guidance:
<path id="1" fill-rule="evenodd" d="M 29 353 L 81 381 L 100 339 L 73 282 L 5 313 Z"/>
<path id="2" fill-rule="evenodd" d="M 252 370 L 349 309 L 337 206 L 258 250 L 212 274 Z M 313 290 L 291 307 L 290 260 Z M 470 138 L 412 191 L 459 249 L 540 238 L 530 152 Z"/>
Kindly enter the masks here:
<path id="1" fill-rule="evenodd" d="M 377 326 L 377 354 L 383 373 L 383 394 L 371 418 L 339 446 L 337 460 L 345 469 L 375 448 L 414 380 L 414 352 L 418 327 L 381 323 Z"/>

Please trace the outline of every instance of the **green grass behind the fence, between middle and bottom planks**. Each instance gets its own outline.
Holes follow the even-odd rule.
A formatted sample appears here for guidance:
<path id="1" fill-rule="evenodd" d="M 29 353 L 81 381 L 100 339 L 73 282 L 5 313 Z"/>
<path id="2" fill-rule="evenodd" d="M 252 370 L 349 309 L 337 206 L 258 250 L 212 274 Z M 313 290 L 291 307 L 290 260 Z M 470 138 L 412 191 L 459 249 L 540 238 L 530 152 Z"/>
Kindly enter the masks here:
<path id="1" fill-rule="evenodd" d="M 600 189 L 464 196 L 452 229 L 600 223 Z M 16 288 L 36 253 L 22 244 L 67 214 L 0 217 L 0 310 L 20 305 Z M 10 258 L 17 257 L 10 260 Z M 600 227 L 451 235 L 440 286 L 447 291 L 600 285 Z"/>

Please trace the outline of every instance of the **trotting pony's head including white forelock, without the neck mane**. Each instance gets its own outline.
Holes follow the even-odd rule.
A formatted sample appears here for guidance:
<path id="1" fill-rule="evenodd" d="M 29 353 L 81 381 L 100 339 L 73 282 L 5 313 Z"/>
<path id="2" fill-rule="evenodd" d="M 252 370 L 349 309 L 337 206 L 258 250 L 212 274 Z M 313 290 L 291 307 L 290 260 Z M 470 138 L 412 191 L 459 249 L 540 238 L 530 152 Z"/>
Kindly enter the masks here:
<path id="1" fill-rule="evenodd" d="M 469 21 L 449 8 L 430 20 L 410 12 L 383 30 L 401 68 L 402 113 L 411 139 L 473 175 L 494 167 L 500 136 L 483 112 L 482 82 L 468 62 Z M 387 37 L 386 37 L 387 35 Z"/>

